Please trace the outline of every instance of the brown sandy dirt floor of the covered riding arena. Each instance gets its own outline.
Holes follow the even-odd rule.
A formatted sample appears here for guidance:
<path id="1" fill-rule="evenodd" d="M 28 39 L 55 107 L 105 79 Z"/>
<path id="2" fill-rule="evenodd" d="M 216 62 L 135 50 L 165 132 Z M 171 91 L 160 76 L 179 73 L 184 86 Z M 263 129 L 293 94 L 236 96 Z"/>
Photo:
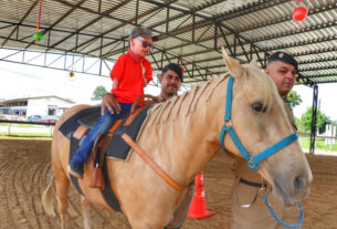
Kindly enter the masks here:
<path id="1" fill-rule="evenodd" d="M 50 145 L 50 139 L 0 138 L 1 229 L 60 228 L 59 218 L 46 216 L 40 200 L 51 173 Z M 302 202 L 303 228 L 337 229 L 337 157 L 309 155 L 308 160 L 314 183 L 309 197 Z M 203 171 L 207 206 L 214 216 L 189 218 L 182 229 L 230 228 L 229 192 L 233 175 L 229 165 L 228 156 L 218 155 Z M 69 196 L 71 228 L 83 228 L 80 197 L 73 187 Z M 130 228 L 123 214 L 93 207 L 91 215 L 93 228 Z"/>

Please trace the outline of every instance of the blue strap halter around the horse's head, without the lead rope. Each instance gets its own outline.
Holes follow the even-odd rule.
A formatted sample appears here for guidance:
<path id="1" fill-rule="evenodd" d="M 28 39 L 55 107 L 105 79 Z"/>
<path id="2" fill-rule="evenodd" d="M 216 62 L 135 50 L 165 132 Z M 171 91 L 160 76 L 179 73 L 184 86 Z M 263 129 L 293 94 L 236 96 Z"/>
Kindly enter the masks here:
<path id="1" fill-rule="evenodd" d="M 289 145 L 291 143 L 295 142 L 297 139 L 297 135 L 295 133 L 291 134 L 289 136 L 283 138 L 275 145 L 268 147 L 267 149 L 261 152 L 260 154 L 252 157 L 244 148 L 242 143 L 240 142 L 238 135 L 235 134 L 232 125 L 231 125 L 231 113 L 232 113 L 232 92 L 233 92 L 233 83 L 234 77 L 230 76 L 229 83 L 227 85 L 227 98 L 225 98 L 225 114 L 224 114 L 224 123 L 230 122 L 229 126 L 225 126 L 223 124 L 221 134 L 220 134 L 220 144 L 222 148 L 225 150 L 223 140 L 225 133 L 229 133 L 230 137 L 232 138 L 233 143 L 235 144 L 236 148 L 241 153 L 242 157 L 248 162 L 248 166 L 253 169 L 259 169 L 259 163 L 264 160 L 265 158 L 272 156 L 283 147 Z"/>

